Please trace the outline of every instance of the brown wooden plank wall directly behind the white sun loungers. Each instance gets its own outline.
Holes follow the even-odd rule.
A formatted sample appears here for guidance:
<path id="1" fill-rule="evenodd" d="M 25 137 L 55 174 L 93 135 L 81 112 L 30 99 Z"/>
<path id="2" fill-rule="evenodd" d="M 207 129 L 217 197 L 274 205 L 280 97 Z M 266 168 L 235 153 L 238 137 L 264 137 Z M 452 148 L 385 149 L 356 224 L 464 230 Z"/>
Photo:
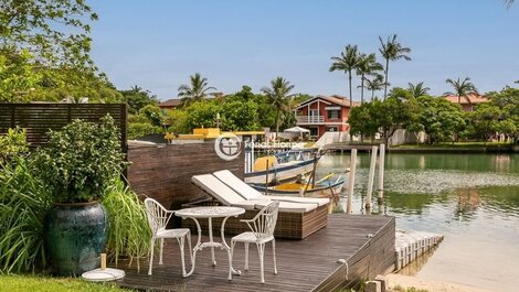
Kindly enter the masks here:
<path id="1" fill-rule="evenodd" d="M 133 144 L 128 147 L 128 181 L 138 194 L 157 199 L 166 208 L 208 198 L 191 183 L 198 174 L 230 170 L 243 179 L 244 154 L 225 161 L 214 152 L 214 140 L 186 144 Z"/>

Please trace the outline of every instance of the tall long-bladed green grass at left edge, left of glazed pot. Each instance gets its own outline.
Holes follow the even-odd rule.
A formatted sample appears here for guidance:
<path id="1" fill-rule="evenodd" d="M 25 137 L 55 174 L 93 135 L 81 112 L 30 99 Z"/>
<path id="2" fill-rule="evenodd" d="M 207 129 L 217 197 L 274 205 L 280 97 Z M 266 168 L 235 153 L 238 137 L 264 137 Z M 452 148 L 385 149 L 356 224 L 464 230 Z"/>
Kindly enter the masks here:
<path id="1" fill-rule="evenodd" d="M 14 158 L 0 165 L 0 271 L 23 272 L 46 264 L 43 217 L 51 198 L 30 162 Z"/>

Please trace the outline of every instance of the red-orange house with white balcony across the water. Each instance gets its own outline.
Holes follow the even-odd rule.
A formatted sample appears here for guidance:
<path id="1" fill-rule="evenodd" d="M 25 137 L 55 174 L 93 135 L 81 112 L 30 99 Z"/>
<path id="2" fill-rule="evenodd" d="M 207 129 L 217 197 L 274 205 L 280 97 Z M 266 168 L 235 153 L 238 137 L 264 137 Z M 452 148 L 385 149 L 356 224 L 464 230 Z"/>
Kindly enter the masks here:
<path id="1" fill-rule="evenodd" d="M 353 101 L 353 107 L 360 102 Z M 319 139 L 325 132 L 347 132 L 350 100 L 342 96 L 316 96 L 297 106 L 297 126 L 309 129 Z"/>

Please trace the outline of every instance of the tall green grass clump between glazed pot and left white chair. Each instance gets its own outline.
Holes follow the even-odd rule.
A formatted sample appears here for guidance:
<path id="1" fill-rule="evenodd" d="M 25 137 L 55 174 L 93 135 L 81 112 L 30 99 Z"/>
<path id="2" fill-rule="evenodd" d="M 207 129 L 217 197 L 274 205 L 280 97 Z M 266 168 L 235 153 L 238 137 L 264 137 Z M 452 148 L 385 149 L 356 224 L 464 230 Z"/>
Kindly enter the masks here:
<path id="1" fill-rule="evenodd" d="M 108 259 L 117 266 L 120 257 L 128 257 L 128 264 L 136 260 L 140 270 L 140 258 L 148 256 L 151 239 L 145 206 L 120 179 L 114 180 L 106 192 L 103 205 L 110 221 Z"/>

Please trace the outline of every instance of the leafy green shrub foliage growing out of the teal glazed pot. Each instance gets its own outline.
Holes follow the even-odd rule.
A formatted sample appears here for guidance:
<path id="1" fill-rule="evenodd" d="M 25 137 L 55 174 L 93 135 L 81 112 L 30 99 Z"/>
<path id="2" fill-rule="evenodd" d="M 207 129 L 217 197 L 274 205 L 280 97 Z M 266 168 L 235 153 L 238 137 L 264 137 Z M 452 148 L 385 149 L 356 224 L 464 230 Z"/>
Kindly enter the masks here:
<path id="1" fill-rule="evenodd" d="M 49 133 L 49 144 L 36 153 L 38 175 L 57 203 L 100 199 L 108 183 L 117 177 L 125 154 L 114 119 L 96 125 L 74 120 L 61 131 Z"/>

